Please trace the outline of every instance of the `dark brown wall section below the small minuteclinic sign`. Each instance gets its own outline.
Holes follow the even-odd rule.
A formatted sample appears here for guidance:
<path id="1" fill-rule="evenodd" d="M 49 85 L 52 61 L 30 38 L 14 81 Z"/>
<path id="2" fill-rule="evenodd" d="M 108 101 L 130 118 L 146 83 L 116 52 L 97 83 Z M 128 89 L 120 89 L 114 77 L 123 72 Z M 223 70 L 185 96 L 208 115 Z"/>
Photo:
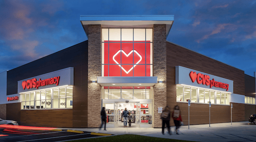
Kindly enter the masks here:
<path id="1" fill-rule="evenodd" d="M 20 124 L 20 103 L 6 104 L 6 120 L 14 120 Z"/>

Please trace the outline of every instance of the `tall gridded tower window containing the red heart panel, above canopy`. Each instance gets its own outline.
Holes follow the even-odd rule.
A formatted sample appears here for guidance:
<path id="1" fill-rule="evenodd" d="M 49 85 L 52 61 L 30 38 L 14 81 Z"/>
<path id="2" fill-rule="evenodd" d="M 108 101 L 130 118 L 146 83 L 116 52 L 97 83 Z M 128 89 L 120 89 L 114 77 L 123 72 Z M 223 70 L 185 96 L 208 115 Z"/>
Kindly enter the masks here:
<path id="1" fill-rule="evenodd" d="M 102 76 L 153 76 L 152 28 L 102 28 Z"/>

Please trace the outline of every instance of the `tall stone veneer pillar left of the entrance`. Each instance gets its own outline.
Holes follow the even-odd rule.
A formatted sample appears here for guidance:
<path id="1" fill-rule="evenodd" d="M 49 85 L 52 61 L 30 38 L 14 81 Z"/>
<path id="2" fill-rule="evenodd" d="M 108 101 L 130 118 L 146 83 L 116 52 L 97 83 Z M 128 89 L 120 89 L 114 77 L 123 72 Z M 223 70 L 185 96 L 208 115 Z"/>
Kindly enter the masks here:
<path id="1" fill-rule="evenodd" d="M 101 117 L 100 85 L 92 83 L 101 76 L 101 25 L 88 26 L 88 128 L 99 127 Z"/>

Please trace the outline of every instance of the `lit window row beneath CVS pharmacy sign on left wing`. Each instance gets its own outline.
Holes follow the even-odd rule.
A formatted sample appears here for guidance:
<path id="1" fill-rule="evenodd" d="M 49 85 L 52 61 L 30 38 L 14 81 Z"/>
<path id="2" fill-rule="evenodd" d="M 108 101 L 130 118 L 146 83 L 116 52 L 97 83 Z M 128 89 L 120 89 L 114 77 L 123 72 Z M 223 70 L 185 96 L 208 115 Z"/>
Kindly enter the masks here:
<path id="1" fill-rule="evenodd" d="M 24 93 L 21 99 L 21 109 L 72 108 L 73 86 Z"/>

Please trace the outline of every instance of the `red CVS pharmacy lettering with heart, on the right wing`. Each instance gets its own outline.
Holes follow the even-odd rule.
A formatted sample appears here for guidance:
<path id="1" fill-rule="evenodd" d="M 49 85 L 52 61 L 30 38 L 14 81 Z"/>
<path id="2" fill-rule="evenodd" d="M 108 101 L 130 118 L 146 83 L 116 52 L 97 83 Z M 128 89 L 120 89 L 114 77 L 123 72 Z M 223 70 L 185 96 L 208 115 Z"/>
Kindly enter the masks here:
<path id="1" fill-rule="evenodd" d="M 212 87 L 223 88 L 223 89 L 226 89 L 226 91 L 228 91 L 229 84 L 215 81 L 214 78 L 212 78 L 212 80 L 210 80 L 209 75 L 203 75 L 201 73 L 197 74 L 196 72 L 191 71 L 189 73 L 189 76 L 190 76 L 192 82 L 195 82 L 195 80 L 196 80 L 198 84 L 204 84 L 204 85 L 210 86 L 210 88 L 212 88 Z"/>

